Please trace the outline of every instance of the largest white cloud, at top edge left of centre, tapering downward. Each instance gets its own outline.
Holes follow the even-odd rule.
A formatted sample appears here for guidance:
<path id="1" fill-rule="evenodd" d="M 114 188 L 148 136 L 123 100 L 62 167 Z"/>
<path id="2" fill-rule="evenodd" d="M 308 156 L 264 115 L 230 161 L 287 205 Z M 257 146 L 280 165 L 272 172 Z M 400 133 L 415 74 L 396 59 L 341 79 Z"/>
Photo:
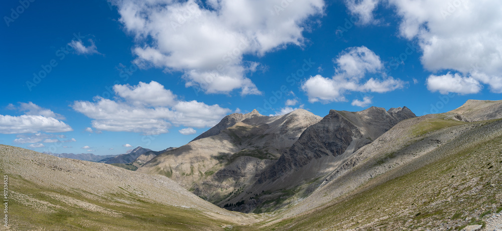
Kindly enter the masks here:
<path id="1" fill-rule="evenodd" d="M 295 1 L 276 12 L 282 0 L 221 0 L 201 8 L 198 1 L 116 0 L 120 22 L 136 36 L 133 53 L 140 67 L 181 71 L 186 86 L 206 93 L 261 94 L 246 73 L 263 56 L 287 45 L 302 46 L 307 20 L 323 14 L 323 0 Z"/>

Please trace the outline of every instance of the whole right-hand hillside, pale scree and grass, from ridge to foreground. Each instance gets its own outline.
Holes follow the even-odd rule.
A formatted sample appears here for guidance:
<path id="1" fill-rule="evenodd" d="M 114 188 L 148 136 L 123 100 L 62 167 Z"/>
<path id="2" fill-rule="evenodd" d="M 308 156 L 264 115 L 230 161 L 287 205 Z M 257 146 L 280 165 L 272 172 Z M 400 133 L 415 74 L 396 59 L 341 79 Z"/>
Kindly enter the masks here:
<path id="1" fill-rule="evenodd" d="M 469 103 L 473 108 L 484 104 Z M 358 149 L 310 196 L 291 198 L 294 205 L 261 228 L 497 227 L 502 210 L 502 121 L 481 109 L 470 111 L 470 118 L 488 121 L 466 122 L 457 112 L 400 122 Z"/>

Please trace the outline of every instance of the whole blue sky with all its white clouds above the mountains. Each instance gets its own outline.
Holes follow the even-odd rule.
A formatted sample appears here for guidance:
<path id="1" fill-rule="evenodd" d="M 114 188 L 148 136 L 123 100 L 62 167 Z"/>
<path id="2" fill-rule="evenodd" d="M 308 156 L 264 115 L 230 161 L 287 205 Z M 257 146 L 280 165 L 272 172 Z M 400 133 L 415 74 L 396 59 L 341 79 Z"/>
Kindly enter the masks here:
<path id="1" fill-rule="evenodd" d="M 455 109 L 502 92 L 499 1 L 2 1 L 0 143 L 119 154 L 227 114 Z"/>

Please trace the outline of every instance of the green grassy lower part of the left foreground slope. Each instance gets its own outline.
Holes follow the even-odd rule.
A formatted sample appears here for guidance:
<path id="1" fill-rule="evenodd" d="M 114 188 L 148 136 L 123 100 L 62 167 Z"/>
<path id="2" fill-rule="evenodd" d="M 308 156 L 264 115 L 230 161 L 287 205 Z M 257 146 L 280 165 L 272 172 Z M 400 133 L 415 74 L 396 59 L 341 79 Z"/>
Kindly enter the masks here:
<path id="1" fill-rule="evenodd" d="M 20 176 L 11 176 L 11 185 L 11 191 L 23 192 L 23 194 L 31 198 L 60 206 L 51 209 L 51 212 L 39 211 L 34 209 L 33 206 L 26 206 L 18 198 L 15 198 L 16 194 L 13 194 L 14 199 L 11 200 L 9 206 L 12 214 L 11 223 L 19 230 L 35 227 L 44 227 L 47 230 L 222 229 L 221 222 L 210 219 L 194 209 L 147 202 L 137 196 L 129 195 L 126 191 L 123 194 L 110 196 L 113 196 L 114 199 L 132 201 L 133 203 L 108 202 L 102 199 L 90 199 L 76 192 L 43 188 L 33 182 L 24 180 Z M 79 206 L 68 206 L 67 203 L 54 199 L 46 193 L 68 196 L 122 215 L 116 217 L 103 212 L 83 209 Z"/>

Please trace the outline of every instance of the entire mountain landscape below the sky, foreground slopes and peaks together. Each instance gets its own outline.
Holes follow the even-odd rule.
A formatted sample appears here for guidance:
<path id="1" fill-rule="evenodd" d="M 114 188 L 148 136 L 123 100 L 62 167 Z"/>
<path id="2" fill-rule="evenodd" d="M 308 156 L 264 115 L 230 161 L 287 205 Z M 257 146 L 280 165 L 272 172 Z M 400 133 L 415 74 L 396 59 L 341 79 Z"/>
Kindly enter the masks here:
<path id="1" fill-rule="evenodd" d="M 136 171 L 6 145 L 0 170 L 15 228 L 494 230 L 501 118 L 502 101 L 480 100 L 420 117 L 255 110 L 176 149 L 136 148 Z"/>

